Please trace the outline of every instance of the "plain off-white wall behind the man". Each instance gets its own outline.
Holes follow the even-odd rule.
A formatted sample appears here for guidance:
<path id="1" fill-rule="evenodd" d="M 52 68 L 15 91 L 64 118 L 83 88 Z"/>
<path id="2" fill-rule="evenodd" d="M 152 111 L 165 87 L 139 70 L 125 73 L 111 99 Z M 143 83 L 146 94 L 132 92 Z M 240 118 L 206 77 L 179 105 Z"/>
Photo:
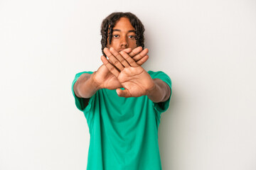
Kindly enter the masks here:
<path id="1" fill-rule="evenodd" d="M 162 168 L 255 170 L 254 0 L 0 0 L 0 169 L 86 169 L 71 83 L 102 64 L 100 24 L 114 11 L 141 19 L 144 69 L 173 83 Z"/>

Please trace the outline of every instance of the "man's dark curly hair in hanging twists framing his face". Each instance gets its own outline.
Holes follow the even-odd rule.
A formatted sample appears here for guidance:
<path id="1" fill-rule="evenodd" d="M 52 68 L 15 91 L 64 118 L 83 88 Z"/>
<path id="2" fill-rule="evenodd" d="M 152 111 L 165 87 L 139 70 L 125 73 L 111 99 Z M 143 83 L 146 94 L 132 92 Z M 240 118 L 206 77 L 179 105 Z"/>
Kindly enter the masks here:
<path id="1" fill-rule="evenodd" d="M 102 21 L 102 25 L 101 25 L 100 33 L 102 35 L 102 40 L 101 40 L 102 54 L 105 57 L 106 55 L 103 52 L 103 49 L 107 47 L 107 38 L 109 38 L 109 42 L 111 44 L 114 25 L 117 23 L 119 18 L 122 18 L 122 17 L 129 18 L 129 21 L 131 22 L 132 26 L 135 29 L 135 40 L 136 40 L 137 47 L 142 46 L 142 48 L 144 49 L 144 30 L 145 29 L 142 22 L 139 20 L 139 18 L 137 18 L 137 16 L 135 16 L 133 13 L 130 13 L 130 12 L 127 12 L 127 13 L 115 12 L 107 16 L 107 18 L 105 18 Z"/>

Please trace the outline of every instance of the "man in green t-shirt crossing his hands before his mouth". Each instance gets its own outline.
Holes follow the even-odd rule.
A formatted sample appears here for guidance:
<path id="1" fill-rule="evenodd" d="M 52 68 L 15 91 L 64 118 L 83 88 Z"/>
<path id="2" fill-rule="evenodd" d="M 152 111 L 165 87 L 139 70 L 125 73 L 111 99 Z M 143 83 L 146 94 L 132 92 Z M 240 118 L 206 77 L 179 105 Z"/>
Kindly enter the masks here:
<path id="1" fill-rule="evenodd" d="M 159 170 L 160 115 L 169 107 L 171 79 L 146 72 L 144 26 L 132 13 L 102 21 L 102 65 L 75 75 L 75 104 L 90 130 L 87 170 Z"/>

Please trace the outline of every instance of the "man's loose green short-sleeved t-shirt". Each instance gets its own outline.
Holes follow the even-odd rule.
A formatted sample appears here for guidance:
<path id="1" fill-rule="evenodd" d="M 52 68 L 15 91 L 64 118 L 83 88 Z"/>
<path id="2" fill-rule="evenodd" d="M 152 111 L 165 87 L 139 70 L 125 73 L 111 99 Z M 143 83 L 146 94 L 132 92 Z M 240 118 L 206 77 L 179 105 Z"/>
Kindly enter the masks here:
<path id="1" fill-rule="evenodd" d="M 75 82 L 81 74 L 75 75 Z M 171 88 L 164 72 L 148 72 Z M 159 170 L 158 128 L 160 115 L 169 107 L 170 98 L 154 103 L 147 96 L 123 98 L 115 90 L 100 89 L 85 107 L 75 96 L 75 105 L 85 114 L 90 131 L 87 170 Z"/>

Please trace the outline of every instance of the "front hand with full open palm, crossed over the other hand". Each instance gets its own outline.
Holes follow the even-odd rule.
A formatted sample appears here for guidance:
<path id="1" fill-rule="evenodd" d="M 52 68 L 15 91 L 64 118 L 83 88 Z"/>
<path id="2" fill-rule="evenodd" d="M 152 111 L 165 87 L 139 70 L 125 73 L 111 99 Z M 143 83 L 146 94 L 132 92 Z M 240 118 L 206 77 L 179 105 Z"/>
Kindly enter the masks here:
<path id="1" fill-rule="evenodd" d="M 124 87 L 124 90 L 117 89 L 118 96 L 144 96 L 155 88 L 154 81 L 150 75 L 126 52 L 117 52 L 113 48 L 110 48 L 110 50 L 105 48 L 104 52 L 110 61 L 102 56 L 103 64 Z"/>

